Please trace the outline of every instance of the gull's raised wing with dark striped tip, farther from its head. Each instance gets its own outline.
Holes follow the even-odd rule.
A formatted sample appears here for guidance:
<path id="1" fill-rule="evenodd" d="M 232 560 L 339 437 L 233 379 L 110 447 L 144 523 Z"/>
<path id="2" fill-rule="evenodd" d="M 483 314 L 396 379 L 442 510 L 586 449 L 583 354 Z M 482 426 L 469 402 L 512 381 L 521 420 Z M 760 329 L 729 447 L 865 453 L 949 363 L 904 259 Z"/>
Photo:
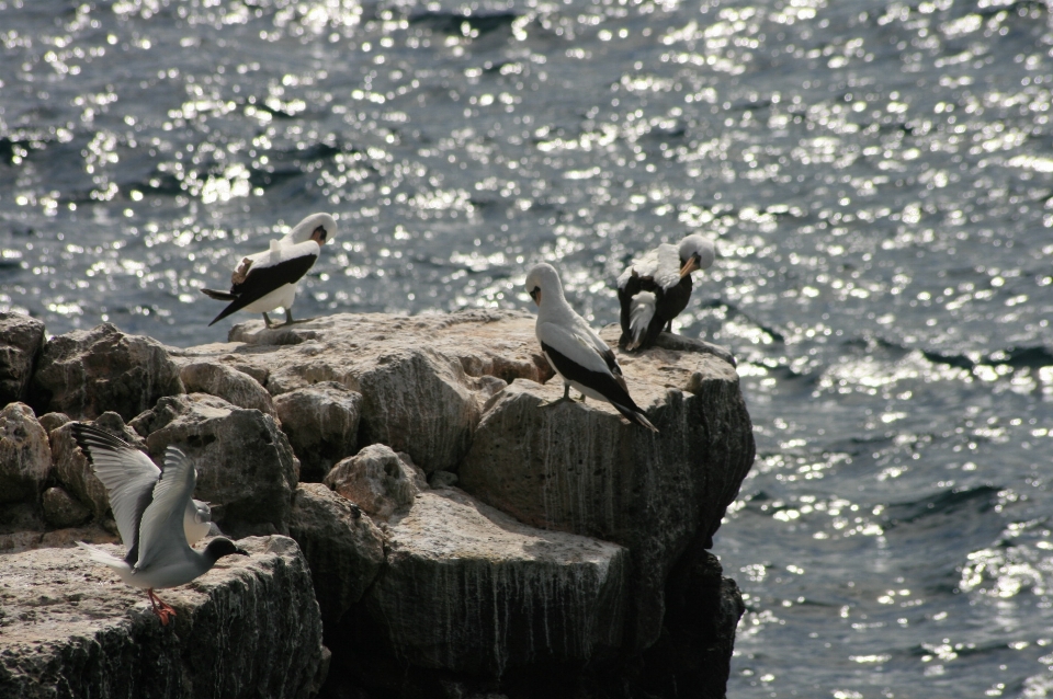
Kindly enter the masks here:
<path id="1" fill-rule="evenodd" d="M 84 423 L 72 426 L 73 438 L 95 475 L 106 486 L 113 518 L 127 553 L 136 550 L 139 519 L 152 500 L 154 486 L 161 475 L 150 457 L 104 429 Z M 128 561 L 135 563 L 135 560 Z"/>

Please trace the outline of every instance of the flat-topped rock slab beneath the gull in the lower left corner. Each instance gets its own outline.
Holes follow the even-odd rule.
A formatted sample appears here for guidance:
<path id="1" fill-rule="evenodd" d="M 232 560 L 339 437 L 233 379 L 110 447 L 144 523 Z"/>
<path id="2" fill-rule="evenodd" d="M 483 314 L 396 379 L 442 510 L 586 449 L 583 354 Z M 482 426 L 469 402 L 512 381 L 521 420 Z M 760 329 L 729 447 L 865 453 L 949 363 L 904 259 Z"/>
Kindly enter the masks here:
<path id="1" fill-rule="evenodd" d="M 325 673 L 307 564 L 285 537 L 239 543 L 251 557 L 162 593 L 168 627 L 79 551 L 4 555 L 0 696 L 306 697 Z"/>

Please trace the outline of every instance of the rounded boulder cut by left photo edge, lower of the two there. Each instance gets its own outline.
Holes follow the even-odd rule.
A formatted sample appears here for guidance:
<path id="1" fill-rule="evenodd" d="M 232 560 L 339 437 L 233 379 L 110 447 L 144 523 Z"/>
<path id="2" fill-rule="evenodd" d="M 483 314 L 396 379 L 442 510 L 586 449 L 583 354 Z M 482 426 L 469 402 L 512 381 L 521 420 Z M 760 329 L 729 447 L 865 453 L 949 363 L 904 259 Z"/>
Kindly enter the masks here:
<path id="1" fill-rule="evenodd" d="M 47 433 L 24 403 L 0 410 L 0 504 L 36 503 L 52 470 Z"/>

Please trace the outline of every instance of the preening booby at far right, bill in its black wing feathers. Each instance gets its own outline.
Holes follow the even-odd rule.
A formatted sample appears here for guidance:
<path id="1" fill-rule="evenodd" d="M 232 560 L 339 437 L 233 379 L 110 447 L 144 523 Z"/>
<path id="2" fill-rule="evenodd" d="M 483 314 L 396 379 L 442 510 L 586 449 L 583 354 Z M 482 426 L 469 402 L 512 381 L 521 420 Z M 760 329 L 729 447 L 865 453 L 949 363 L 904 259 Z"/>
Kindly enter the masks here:
<path id="1" fill-rule="evenodd" d="M 672 332 L 672 319 L 691 299 L 691 273 L 707 270 L 716 257 L 716 245 L 693 233 L 679 248 L 663 243 L 634 260 L 618 277 L 618 301 L 622 307 L 622 336 L 619 346 L 646 350 L 658 334 Z"/>

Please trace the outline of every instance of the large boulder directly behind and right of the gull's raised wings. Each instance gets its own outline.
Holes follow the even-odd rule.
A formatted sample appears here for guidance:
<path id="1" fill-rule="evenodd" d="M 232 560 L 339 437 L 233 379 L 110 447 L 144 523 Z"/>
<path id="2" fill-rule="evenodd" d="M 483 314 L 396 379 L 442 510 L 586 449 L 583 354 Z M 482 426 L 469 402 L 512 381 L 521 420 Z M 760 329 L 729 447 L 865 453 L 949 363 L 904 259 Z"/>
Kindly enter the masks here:
<path id="1" fill-rule="evenodd" d="M 298 465 L 273 417 L 222 398 L 191 393 L 162 398 L 134 421 L 155 459 L 173 445 L 194 460 L 194 496 L 234 536 L 286 534 Z"/>

